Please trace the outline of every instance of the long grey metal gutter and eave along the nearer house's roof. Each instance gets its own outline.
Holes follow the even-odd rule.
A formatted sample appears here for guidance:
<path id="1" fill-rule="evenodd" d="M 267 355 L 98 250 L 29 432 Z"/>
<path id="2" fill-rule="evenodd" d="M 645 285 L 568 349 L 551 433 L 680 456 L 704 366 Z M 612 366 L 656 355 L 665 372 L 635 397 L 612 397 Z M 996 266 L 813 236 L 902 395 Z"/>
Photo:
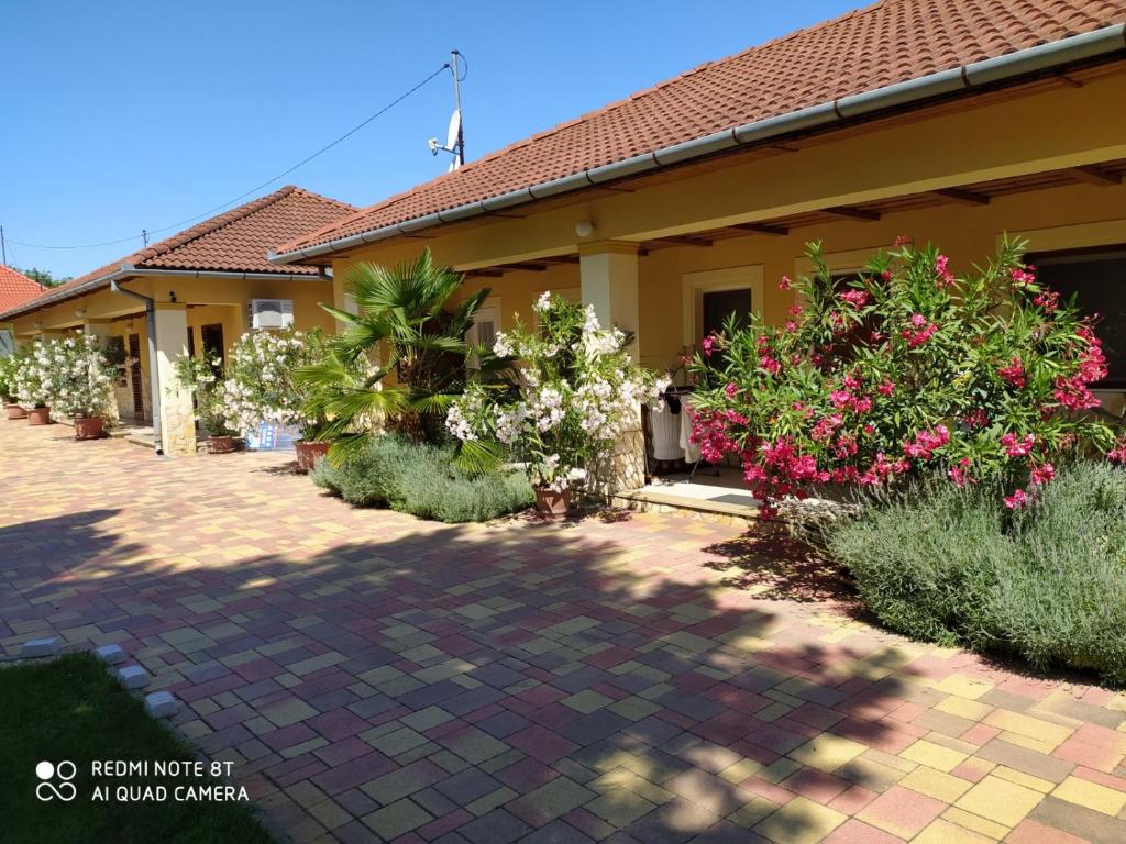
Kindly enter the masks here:
<path id="1" fill-rule="evenodd" d="M 843 119 L 888 108 L 911 106 L 935 97 L 969 91 L 982 86 L 1006 82 L 1076 62 L 1106 57 L 1123 50 L 1126 50 L 1126 24 L 1115 24 L 1007 55 L 984 59 L 960 68 L 930 73 L 861 93 L 839 97 L 797 111 L 723 129 L 704 137 L 664 146 L 653 152 L 583 170 L 560 179 L 552 179 L 528 188 L 520 188 L 497 197 L 466 203 L 423 217 L 366 230 L 286 252 L 270 250 L 267 259 L 270 263 L 277 264 L 310 260 L 401 234 L 414 233 L 435 225 L 470 219 L 499 208 L 522 205 L 647 170 L 701 159 L 739 146 L 776 138 L 780 135 L 821 128 Z"/>

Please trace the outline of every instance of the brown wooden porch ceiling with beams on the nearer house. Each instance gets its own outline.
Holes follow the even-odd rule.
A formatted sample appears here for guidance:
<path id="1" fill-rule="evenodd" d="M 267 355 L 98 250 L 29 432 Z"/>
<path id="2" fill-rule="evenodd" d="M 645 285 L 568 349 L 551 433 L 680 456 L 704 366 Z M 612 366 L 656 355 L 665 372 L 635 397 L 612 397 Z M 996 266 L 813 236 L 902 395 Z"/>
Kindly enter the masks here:
<path id="1" fill-rule="evenodd" d="M 716 241 L 745 237 L 751 234 L 785 236 L 798 228 L 808 228 L 841 219 L 875 222 L 881 219 L 885 214 L 933 208 L 941 205 L 982 206 L 989 205 L 997 197 L 1026 194 L 1048 188 L 1073 185 L 1108 187 L 1121 185 L 1124 181 L 1126 181 L 1126 159 L 1117 159 L 1115 161 L 1102 162 L 1098 165 L 1048 170 L 1008 179 L 968 182 L 953 188 L 944 188 L 942 190 L 904 194 L 870 203 L 822 208 L 803 214 L 759 219 L 753 223 L 739 223 L 718 228 L 701 230 L 674 237 L 656 237 L 642 241 L 638 254 L 647 254 L 655 250 L 671 249 L 673 246 L 698 246 L 706 249 Z M 579 255 L 575 251 L 548 258 L 538 258 L 534 261 L 499 263 L 492 267 L 477 268 L 467 271 L 465 276 L 466 278 L 495 278 L 503 276 L 506 272 L 545 270 L 554 263 L 578 262 Z"/>

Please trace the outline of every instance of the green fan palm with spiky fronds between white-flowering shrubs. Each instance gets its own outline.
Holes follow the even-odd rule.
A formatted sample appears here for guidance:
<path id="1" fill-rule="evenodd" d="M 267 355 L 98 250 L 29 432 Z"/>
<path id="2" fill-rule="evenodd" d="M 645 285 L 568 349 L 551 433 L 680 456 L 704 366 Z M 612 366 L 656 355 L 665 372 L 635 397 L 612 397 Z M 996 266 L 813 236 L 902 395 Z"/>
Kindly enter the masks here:
<path id="1" fill-rule="evenodd" d="M 298 374 L 314 395 L 310 410 L 331 421 L 321 439 L 333 440 L 337 458 L 367 437 L 373 419 L 415 442 L 438 442 L 443 420 L 468 379 L 494 381 L 512 365 L 491 349 L 465 341 L 488 288 L 457 304 L 463 277 L 435 264 L 426 249 L 394 267 L 357 264 L 345 281 L 357 314 L 321 305 L 341 324 L 324 359 Z M 473 357 L 477 363 L 470 369 Z M 315 405 L 315 407 L 313 406 Z M 484 468 L 489 447 L 464 449 L 462 460 Z"/>

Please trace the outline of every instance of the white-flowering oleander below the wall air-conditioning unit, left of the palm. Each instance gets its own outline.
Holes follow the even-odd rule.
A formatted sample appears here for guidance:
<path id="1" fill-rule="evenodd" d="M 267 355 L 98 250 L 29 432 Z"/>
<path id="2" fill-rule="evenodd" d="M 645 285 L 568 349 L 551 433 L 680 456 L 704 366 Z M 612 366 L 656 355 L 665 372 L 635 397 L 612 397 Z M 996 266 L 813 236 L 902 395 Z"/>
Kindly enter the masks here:
<path id="1" fill-rule="evenodd" d="M 303 410 L 309 388 L 295 376 L 298 369 L 316 363 L 323 351 L 319 331 L 251 331 L 239 338 L 220 392 L 230 428 L 245 434 L 262 422 L 297 425 L 302 437 L 314 439 L 324 421 Z"/>

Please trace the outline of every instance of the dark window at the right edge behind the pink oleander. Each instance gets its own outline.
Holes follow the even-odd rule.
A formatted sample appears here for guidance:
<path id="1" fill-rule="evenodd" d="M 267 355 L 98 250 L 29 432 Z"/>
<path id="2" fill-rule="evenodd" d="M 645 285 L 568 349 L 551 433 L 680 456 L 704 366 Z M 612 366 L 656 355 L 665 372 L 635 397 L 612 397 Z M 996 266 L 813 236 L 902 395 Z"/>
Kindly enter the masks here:
<path id="1" fill-rule="evenodd" d="M 1074 296 L 1080 313 L 1099 315 L 1094 333 L 1102 341 L 1108 376 L 1098 386 L 1126 387 L 1126 245 L 1040 252 L 1026 261 L 1061 299 Z"/>

